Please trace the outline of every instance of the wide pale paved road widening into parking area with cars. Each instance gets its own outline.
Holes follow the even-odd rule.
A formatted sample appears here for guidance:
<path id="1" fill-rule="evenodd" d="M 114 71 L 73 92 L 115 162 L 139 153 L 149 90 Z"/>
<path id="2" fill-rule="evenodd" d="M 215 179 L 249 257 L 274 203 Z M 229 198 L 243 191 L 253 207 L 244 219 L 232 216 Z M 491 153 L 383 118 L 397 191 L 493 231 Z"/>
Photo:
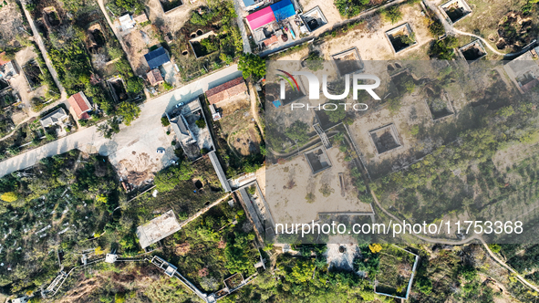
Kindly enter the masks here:
<path id="1" fill-rule="evenodd" d="M 33 166 L 42 158 L 73 149 L 98 152 L 101 155 L 109 156 L 109 160 L 113 164 L 124 159 L 126 154 L 130 155 L 131 150 L 135 149 L 151 150 L 153 151 L 151 154 L 153 157 L 155 149 L 160 146 L 153 146 L 152 144 L 159 142 L 158 137 L 163 138 L 165 136 L 164 129 L 161 126 L 161 116 L 166 110 L 171 110 L 180 100 L 192 100 L 207 89 L 223 84 L 240 75 L 241 71 L 238 71 L 237 66 L 233 65 L 208 77 L 194 81 L 181 89 L 172 90 L 156 99 L 150 99 L 140 106 L 141 113 L 139 119 L 133 121 L 129 127 L 120 127 L 119 134 L 114 136 L 112 140 L 103 138 L 97 131 L 97 127 L 92 126 L 34 150 L 26 151 L 16 157 L 0 162 L 0 176 Z M 168 148 L 167 153 L 171 150 L 170 141 L 168 142 L 168 145 L 166 145 Z M 117 154 L 121 154 L 122 156 L 117 157 Z M 135 155 L 132 157 L 134 158 Z M 166 161 L 163 161 L 161 164 L 165 163 Z M 157 164 L 159 165 L 160 163 L 158 162 Z"/>

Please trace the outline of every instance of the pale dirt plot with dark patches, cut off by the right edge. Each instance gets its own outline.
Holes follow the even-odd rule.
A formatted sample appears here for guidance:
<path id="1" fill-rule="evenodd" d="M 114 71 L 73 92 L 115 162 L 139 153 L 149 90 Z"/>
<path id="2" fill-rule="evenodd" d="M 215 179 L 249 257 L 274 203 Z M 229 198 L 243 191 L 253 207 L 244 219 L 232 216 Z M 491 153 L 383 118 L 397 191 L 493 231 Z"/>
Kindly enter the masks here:
<path id="1" fill-rule="evenodd" d="M 521 93 L 528 92 L 539 85 L 538 54 L 539 47 L 535 47 L 503 66 L 503 69 Z"/>

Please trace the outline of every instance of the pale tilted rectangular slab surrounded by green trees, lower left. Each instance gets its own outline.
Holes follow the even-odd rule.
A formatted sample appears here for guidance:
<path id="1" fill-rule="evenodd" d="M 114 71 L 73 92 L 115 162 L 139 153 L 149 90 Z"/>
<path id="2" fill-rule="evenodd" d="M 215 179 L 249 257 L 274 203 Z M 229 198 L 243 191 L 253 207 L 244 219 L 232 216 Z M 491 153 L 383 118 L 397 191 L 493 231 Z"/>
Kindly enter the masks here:
<path id="1" fill-rule="evenodd" d="M 181 229 L 172 210 L 161 214 L 157 218 L 137 227 L 137 236 L 142 249 L 172 235 Z"/>

